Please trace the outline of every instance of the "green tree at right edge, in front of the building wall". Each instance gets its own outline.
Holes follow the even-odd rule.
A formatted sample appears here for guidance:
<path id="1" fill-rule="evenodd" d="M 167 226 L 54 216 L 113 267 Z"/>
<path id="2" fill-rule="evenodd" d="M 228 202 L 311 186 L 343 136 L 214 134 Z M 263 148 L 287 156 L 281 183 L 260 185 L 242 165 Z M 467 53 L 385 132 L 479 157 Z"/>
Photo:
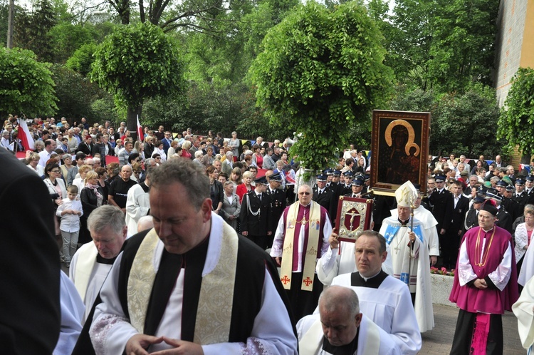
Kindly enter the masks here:
<path id="1" fill-rule="evenodd" d="M 517 145 L 523 155 L 530 157 L 534 153 L 534 70 L 519 68 L 511 83 L 498 120 L 497 137 L 508 148 Z M 530 163 L 528 160 L 522 163 Z"/>

